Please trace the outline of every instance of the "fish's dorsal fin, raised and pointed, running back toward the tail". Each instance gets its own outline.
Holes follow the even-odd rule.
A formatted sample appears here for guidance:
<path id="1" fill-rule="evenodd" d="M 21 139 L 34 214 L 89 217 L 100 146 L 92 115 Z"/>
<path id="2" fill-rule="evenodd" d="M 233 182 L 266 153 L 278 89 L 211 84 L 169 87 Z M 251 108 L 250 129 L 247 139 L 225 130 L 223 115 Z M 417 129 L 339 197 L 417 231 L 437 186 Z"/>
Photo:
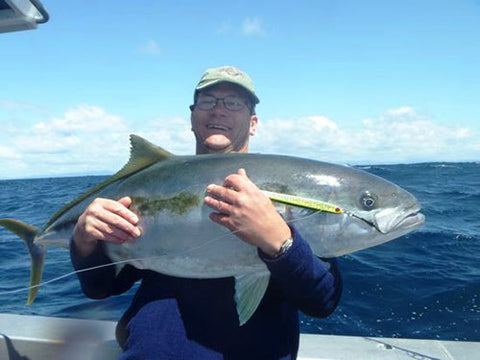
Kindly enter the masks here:
<path id="1" fill-rule="evenodd" d="M 161 147 L 152 144 L 151 142 L 145 140 L 144 138 L 138 135 L 131 134 L 130 135 L 130 159 L 128 160 L 127 164 L 122 169 L 120 169 L 120 171 L 118 171 L 116 174 L 110 176 L 108 179 L 101 182 L 100 184 L 95 185 L 94 187 L 89 189 L 86 193 L 80 195 L 79 197 L 72 200 L 64 207 L 62 207 L 60 210 L 58 210 L 50 218 L 48 223 L 45 225 L 45 228 L 53 224 L 53 222 L 57 220 L 60 216 L 62 216 L 63 213 L 65 213 L 66 211 L 68 211 L 78 203 L 82 202 L 89 196 L 100 191 L 105 186 L 117 180 L 120 180 L 124 177 L 135 174 L 136 172 L 143 170 L 152 164 L 155 164 L 159 161 L 166 160 L 172 156 L 174 155 L 162 149 Z"/>

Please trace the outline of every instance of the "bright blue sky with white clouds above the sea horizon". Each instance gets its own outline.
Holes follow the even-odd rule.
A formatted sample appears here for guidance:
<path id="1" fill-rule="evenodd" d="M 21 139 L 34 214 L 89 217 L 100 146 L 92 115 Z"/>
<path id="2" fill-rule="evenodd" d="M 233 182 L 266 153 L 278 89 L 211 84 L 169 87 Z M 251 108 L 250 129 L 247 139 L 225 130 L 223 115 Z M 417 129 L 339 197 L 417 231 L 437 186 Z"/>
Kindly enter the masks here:
<path id="1" fill-rule="evenodd" d="M 250 152 L 346 164 L 480 161 L 480 0 L 42 0 L 0 34 L 0 179 L 111 174 L 129 134 L 193 154 L 193 89 L 235 65 Z"/>

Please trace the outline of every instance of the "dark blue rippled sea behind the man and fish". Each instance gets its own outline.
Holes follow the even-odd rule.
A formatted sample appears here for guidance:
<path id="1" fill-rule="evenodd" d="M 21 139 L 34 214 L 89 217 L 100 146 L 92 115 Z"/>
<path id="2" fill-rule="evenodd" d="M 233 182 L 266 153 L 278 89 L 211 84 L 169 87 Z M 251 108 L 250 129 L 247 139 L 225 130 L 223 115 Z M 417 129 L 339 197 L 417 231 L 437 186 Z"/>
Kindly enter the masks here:
<path id="1" fill-rule="evenodd" d="M 400 239 L 341 257 L 344 293 L 327 319 L 301 316 L 305 333 L 480 341 L 480 163 L 361 166 L 412 192 L 426 224 Z M 0 181 L 0 218 L 42 227 L 63 204 L 104 177 Z M 30 258 L 0 229 L 0 312 L 118 319 L 134 294 L 107 300 L 81 292 L 68 251 L 51 247 L 44 285 L 25 306 Z M 8 293 L 6 293 L 8 292 Z"/>

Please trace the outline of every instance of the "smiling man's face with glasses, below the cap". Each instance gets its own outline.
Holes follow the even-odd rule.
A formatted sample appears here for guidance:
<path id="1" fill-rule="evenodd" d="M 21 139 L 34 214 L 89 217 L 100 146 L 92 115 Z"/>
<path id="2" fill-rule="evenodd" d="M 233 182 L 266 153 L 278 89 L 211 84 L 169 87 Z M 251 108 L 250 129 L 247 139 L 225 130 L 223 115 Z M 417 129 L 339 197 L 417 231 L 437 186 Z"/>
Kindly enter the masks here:
<path id="1" fill-rule="evenodd" d="M 249 104 L 245 91 L 231 83 L 220 83 L 203 90 L 198 95 L 197 104 L 209 96 L 217 99 L 237 96 Z M 197 140 L 197 154 L 247 152 L 248 139 L 255 133 L 257 121 L 249 106 L 238 111 L 228 110 L 223 101 L 218 101 L 210 110 L 195 106 L 191 122 Z"/>

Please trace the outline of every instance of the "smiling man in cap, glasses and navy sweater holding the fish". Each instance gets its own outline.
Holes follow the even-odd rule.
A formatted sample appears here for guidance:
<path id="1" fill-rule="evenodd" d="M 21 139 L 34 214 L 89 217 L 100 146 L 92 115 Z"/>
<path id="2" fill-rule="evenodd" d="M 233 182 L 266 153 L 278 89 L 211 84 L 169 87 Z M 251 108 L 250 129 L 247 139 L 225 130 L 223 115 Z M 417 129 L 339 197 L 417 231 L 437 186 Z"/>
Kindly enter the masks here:
<path id="1" fill-rule="evenodd" d="M 259 102 L 251 79 L 234 67 L 209 69 L 191 109 L 196 153 L 248 152 Z M 271 272 L 262 302 L 239 325 L 233 278 L 183 279 L 126 266 L 79 274 L 82 289 L 105 298 L 142 283 L 117 326 L 120 359 L 295 359 L 298 309 L 326 317 L 336 308 L 342 282 L 335 260 L 315 257 L 305 240 L 275 211 L 244 169 L 207 186 L 211 220 L 258 248 Z M 131 199 L 94 200 L 80 216 L 71 246 L 76 269 L 108 264 L 103 243 L 136 241 L 139 219 Z M 192 234 L 194 236 L 194 234 Z M 138 239 L 141 241 L 141 239 Z"/>

